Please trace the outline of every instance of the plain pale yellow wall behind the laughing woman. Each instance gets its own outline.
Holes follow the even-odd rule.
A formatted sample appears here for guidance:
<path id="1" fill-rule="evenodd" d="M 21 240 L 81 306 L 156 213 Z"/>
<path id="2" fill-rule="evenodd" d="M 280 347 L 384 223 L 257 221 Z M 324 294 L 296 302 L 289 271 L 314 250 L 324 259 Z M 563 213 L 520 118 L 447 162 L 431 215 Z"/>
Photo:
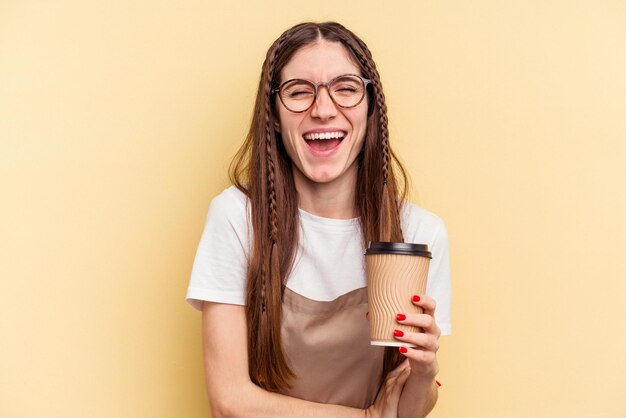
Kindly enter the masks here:
<path id="1" fill-rule="evenodd" d="M 0 3 L 0 416 L 207 417 L 185 289 L 268 46 L 338 20 L 448 226 L 435 418 L 626 417 L 626 3 Z"/>

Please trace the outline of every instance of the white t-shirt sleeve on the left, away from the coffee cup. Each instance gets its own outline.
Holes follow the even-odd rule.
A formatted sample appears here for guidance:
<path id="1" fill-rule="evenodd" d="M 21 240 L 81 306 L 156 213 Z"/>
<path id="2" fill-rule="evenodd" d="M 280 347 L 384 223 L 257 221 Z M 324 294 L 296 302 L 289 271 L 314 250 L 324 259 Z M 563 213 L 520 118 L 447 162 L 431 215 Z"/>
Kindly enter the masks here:
<path id="1" fill-rule="evenodd" d="M 202 301 L 245 305 L 247 215 L 247 199 L 235 187 L 211 202 L 187 288 L 187 302 L 194 308 L 202 309 Z"/>

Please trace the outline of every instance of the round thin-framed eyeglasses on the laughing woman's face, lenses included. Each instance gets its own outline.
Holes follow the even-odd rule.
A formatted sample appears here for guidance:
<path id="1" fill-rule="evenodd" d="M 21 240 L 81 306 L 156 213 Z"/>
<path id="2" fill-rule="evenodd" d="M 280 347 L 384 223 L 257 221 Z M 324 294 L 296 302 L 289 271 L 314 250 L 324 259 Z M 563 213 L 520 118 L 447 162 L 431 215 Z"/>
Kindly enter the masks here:
<path id="1" fill-rule="evenodd" d="M 337 106 L 344 109 L 355 107 L 363 101 L 367 85 L 372 81 L 356 74 L 344 74 L 324 83 L 294 78 L 282 83 L 272 93 L 278 97 L 287 110 L 302 113 L 309 110 L 319 94 L 320 86 L 326 87 L 328 94 Z"/>

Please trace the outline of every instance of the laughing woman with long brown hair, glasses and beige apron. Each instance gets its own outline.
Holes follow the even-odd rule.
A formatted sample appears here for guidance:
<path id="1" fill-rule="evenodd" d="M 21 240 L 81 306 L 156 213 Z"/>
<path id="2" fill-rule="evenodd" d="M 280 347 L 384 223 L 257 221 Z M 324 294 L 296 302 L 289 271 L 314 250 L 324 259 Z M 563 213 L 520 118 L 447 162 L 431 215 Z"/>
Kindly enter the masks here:
<path id="1" fill-rule="evenodd" d="M 213 416 L 425 416 L 450 327 L 447 235 L 405 204 L 363 41 L 330 22 L 274 42 L 231 178 L 211 203 L 187 293 L 203 312 Z M 363 252 L 404 239 L 433 253 L 428 295 L 407 295 L 424 314 L 397 316 L 424 331 L 395 336 L 415 349 L 373 347 Z"/>

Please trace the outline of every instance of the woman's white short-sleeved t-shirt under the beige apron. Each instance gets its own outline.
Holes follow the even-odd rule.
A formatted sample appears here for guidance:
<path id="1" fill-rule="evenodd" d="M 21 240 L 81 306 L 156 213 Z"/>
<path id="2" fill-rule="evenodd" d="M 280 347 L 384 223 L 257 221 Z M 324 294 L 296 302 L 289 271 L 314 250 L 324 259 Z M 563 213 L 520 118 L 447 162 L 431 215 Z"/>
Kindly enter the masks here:
<path id="1" fill-rule="evenodd" d="M 187 289 L 187 301 L 245 305 L 252 227 L 246 196 L 231 186 L 211 202 Z M 330 219 L 300 209 L 300 237 L 286 286 L 316 301 L 332 301 L 367 286 L 365 248 L 358 219 Z M 435 214 L 411 203 L 402 211 L 405 242 L 432 252 L 426 294 L 437 302 L 435 319 L 449 335 L 450 262 L 448 235 Z"/>

